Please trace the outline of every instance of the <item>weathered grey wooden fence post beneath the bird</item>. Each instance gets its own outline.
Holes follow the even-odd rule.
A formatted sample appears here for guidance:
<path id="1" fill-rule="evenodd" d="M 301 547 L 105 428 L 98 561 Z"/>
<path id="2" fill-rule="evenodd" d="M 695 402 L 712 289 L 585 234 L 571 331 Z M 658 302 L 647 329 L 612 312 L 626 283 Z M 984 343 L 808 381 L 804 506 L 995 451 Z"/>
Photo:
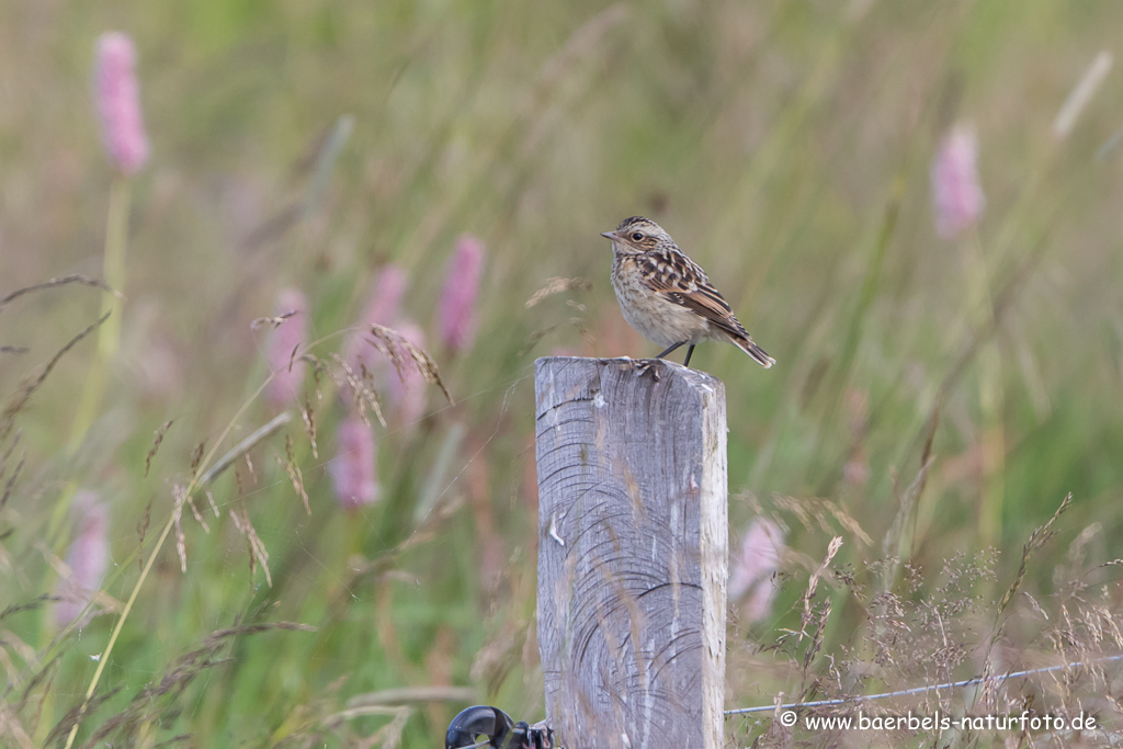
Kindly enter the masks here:
<path id="1" fill-rule="evenodd" d="M 663 360 L 537 362 L 538 641 L 566 749 L 720 749 L 725 390 Z"/>

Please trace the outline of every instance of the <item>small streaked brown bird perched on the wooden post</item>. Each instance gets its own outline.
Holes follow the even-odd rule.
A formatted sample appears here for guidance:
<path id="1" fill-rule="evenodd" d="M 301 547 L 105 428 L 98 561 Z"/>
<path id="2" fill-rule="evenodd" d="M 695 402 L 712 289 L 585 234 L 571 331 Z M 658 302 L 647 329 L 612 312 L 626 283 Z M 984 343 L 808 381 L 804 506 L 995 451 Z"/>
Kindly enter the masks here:
<path id="1" fill-rule="evenodd" d="M 633 216 L 601 236 L 612 240 L 612 287 L 624 320 L 648 340 L 667 347 L 656 358 L 690 344 L 683 363 L 690 366 L 697 344 L 724 340 L 766 369 L 776 364 L 752 342 L 705 271 L 658 223 Z"/>

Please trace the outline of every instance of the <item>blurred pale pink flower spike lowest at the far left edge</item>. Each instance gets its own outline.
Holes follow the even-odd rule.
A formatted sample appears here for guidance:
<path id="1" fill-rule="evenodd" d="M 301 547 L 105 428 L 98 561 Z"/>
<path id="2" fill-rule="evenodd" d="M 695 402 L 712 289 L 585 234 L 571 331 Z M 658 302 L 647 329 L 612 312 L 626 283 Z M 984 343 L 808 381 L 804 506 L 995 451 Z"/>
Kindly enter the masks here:
<path id="1" fill-rule="evenodd" d="M 56 588 L 61 601 L 55 605 L 55 622 L 66 627 L 82 612 L 94 593 L 109 565 L 109 512 L 106 503 L 94 493 L 79 492 L 73 512 L 77 533 L 66 550 L 67 574 Z"/>

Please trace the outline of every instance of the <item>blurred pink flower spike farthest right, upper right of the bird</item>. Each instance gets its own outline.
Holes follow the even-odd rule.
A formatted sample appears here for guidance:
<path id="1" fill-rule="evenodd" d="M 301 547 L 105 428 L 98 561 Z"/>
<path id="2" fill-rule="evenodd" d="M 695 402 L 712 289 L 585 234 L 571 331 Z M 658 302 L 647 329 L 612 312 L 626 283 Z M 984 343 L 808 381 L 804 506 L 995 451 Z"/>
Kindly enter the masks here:
<path id="1" fill-rule="evenodd" d="M 978 138 L 967 125 L 957 125 L 944 136 L 932 161 L 932 204 L 935 231 L 952 239 L 983 216 L 986 198 L 979 186 Z"/>

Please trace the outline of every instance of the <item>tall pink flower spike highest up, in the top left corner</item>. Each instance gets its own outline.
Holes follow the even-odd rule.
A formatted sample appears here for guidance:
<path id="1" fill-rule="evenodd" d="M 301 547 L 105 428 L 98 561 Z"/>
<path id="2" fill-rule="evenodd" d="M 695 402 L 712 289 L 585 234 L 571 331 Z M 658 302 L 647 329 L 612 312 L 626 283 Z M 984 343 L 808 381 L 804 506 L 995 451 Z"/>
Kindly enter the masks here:
<path id="1" fill-rule="evenodd" d="M 148 159 L 148 137 L 140 116 L 133 39 L 119 31 L 98 38 L 94 98 L 106 150 L 121 174 L 136 174 Z"/>

